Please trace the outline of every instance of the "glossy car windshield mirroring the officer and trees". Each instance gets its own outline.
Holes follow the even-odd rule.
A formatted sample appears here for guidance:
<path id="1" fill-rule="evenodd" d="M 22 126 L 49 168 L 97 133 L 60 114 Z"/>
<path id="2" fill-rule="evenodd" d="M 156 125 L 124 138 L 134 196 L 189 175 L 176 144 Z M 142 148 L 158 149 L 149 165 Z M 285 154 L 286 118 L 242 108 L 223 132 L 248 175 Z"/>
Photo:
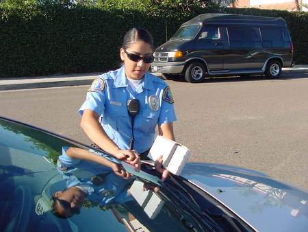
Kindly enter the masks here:
<path id="1" fill-rule="evenodd" d="M 211 231 L 216 227 L 211 220 L 205 223 L 206 218 L 196 217 L 191 205 L 175 200 L 151 167 L 125 180 L 107 164 L 72 159 L 70 154 L 92 152 L 121 165 L 102 151 L 1 117 L 0 137 L 0 231 Z"/>

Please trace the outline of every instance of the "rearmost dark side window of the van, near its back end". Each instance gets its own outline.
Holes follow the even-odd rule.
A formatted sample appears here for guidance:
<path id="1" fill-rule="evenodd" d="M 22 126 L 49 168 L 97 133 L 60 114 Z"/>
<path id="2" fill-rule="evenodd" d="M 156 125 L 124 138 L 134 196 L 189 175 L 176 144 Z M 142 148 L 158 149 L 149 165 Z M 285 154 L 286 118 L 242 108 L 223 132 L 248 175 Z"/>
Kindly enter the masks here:
<path id="1" fill-rule="evenodd" d="M 261 27 L 263 47 L 283 47 L 283 34 L 279 27 Z"/>

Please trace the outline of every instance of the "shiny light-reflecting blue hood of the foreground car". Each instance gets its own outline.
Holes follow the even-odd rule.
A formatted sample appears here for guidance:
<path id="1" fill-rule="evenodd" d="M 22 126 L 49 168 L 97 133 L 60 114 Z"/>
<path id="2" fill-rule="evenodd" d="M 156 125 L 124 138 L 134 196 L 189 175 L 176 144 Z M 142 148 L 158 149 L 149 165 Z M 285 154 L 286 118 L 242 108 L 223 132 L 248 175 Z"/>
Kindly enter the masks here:
<path id="1" fill-rule="evenodd" d="M 308 193 L 240 167 L 187 163 L 181 176 L 257 231 L 307 231 Z"/>

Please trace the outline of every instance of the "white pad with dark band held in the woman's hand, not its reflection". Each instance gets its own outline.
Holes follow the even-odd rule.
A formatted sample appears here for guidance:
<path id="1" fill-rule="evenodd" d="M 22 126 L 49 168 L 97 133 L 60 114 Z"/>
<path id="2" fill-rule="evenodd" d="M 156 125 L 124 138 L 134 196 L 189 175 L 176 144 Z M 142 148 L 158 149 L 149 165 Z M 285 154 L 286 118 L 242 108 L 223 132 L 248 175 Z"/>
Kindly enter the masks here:
<path id="1" fill-rule="evenodd" d="M 190 150 L 180 143 L 159 135 L 156 137 L 148 157 L 156 161 L 161 155 L 163 156 L 163 166 L 173 174 L 179 175 L 188 161 Z"/>

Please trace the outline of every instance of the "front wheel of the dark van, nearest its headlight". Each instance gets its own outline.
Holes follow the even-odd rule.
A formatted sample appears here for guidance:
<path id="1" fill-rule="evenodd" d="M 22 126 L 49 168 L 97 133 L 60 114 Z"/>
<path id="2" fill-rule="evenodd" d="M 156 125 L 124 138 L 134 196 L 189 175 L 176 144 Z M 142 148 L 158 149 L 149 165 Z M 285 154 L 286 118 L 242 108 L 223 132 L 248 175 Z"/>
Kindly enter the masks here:
<path id="1" fill-rule="evenodd" d="M 205 78 L 205 66 L 201 62 L 193 62 L 185 71 L 185 80 L 190 83 L 202 82 Z"/>

